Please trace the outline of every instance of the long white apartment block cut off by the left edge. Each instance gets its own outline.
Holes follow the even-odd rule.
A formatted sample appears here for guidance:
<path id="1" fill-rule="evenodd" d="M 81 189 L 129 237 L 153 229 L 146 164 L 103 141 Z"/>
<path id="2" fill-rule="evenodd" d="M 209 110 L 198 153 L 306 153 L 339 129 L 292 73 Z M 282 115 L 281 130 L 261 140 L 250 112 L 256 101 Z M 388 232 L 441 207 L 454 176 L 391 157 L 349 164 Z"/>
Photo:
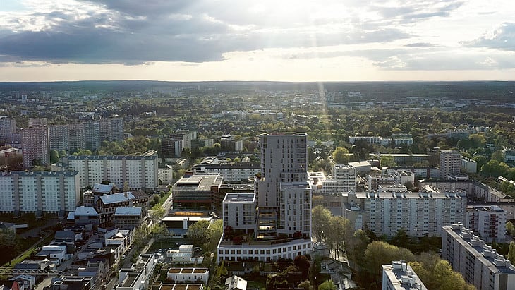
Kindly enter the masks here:
<path id="1" fill-rule="evenodd" d="M 58 213 L 75 210 L 80 203 L 76 171 L 0 172 L 1 213 Z"/>

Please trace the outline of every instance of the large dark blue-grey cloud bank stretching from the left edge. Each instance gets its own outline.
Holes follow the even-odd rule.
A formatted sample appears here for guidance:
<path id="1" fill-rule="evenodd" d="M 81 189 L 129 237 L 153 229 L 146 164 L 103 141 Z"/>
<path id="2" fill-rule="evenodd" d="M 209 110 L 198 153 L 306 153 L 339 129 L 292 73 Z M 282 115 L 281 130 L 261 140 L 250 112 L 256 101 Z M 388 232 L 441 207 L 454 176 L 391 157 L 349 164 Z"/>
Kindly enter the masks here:
<path id="1" fill-rule="evenodd" d="M 1 34 L 0 54 L 16 61 L 52 63 L 203 62 L 222 60 L 226 52 L 384 43 L 411 36 L 395 28 L 320 29 L 300 12 L 289 13 L 292 21 L 282 19 L 281 13 L 269 7 L 259 13 L 243 9 L 250 2 L 88 2 L 104 9 L 93 9 L 80 18 L 73 10 L 33 13 L 32 17 L 44 18 L 49 28 Z M 234 13 L 228 8 L 243 10 Z M 292 9 L 295 12 L 296 8 Z M 263 18 L 269 20 L 267 25 Z M 331 25 L 333 20 L 319 24 L 325 28 L 323 25 Z M 12 22 L 16 21 L 13 18 Z"/>

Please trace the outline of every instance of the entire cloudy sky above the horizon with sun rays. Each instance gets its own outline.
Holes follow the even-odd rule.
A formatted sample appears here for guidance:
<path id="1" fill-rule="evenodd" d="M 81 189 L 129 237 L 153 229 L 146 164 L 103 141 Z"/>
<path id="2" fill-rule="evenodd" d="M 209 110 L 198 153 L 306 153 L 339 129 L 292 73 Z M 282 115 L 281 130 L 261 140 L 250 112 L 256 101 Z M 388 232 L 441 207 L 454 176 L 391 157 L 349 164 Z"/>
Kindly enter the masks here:
<path id="1" fill-rule="evenodd" d="M 513 0 L 0 0 L 0 81 L 515 80 Z"/>

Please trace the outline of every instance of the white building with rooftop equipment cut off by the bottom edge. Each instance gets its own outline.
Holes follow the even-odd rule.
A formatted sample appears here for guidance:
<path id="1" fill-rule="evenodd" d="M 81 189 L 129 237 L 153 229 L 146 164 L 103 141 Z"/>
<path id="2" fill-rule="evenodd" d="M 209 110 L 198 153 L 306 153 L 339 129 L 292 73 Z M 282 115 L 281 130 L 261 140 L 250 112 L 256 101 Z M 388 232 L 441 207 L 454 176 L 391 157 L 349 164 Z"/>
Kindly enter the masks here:
<path id="1" fill-rule="evenodd" d="M 382 290 L 428 290 L 406 261 L 382 265 Z"/>

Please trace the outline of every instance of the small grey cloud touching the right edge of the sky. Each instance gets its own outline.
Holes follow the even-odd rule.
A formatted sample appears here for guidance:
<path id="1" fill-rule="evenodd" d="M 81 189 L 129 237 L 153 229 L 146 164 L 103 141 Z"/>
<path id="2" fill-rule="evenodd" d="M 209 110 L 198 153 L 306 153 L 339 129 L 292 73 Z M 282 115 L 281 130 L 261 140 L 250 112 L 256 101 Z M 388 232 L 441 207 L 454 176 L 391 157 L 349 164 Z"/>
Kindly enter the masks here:
<path id="1" fill-rule="evenodd" d="M 515 23 L 503 23 L 495 30 L 492 37 L 483 36 L 462 44 L 468 47 L 487 47 L 515 52 Z"/>

